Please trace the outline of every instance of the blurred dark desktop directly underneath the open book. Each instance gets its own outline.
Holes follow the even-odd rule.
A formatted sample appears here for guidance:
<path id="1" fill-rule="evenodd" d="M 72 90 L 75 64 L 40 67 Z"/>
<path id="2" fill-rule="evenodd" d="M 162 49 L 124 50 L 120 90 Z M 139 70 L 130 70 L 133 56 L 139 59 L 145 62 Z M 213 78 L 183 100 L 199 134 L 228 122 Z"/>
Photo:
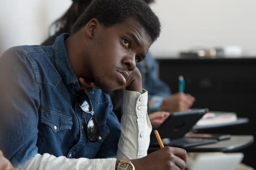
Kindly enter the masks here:
<path id="1" fill-rule="evenodd" d="M 204 126 L 193 126 L 192 131 L 199 130 L 199 129 L 210 129 L 210 128 L 220 128 L 225 126 L 235 126 L 235 125 L 241 125 L 246 124 L 249 122 L 248 118 L 238 117 L 237 121 L 229 122 L 229 123 L 222 123 L 222 124 L 214 124 L 214 125 L 204 125 Z"/>

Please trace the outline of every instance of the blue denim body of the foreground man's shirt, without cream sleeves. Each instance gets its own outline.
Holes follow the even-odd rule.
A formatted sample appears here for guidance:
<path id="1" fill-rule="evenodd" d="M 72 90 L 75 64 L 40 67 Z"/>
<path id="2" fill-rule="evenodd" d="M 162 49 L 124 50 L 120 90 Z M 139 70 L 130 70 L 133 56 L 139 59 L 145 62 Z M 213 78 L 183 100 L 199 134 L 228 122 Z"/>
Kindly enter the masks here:
<path id="1" fill-rule="evenodd" d="M 53 46 L 17 46 L 0 58 L 0 149 L 19 168 L 37 153 L 67 158 L 115 157 L 120 124 L 110 97 L 88 88 L 100 140 L 86 138 L 75 102 L 79 82 L 61 34 Z"/>

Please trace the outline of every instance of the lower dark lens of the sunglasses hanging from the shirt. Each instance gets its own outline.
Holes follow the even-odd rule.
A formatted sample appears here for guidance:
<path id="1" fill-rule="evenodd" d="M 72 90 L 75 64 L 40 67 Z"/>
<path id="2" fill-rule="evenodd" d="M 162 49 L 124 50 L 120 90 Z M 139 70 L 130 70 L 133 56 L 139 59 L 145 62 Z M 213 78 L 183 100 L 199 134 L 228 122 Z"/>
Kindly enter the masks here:
<path id="1" fill-rule="evenodd" d="M 87 137 L 89 140 L 92 141 L 96 141 L 98 140 L 99 137 L 99 131 L 98 131 L 98 124 L 97 121 L 94 117 L 94 115 L 92 116 L 92 118 L 89 120 L 88 124 L 87 124 Z"/>

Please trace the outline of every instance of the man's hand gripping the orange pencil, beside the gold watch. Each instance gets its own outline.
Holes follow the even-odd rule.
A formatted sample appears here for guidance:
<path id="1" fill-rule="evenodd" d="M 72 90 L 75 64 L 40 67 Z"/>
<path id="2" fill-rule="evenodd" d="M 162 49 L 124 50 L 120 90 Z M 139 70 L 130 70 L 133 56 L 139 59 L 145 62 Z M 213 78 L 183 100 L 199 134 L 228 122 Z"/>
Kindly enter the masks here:
<path id="1" fill-rule="evenodd" d="M 166 146 L 143 158 L 131 160 L 131 162 L 136 170 L 184 170 L 186 151 Z"/>

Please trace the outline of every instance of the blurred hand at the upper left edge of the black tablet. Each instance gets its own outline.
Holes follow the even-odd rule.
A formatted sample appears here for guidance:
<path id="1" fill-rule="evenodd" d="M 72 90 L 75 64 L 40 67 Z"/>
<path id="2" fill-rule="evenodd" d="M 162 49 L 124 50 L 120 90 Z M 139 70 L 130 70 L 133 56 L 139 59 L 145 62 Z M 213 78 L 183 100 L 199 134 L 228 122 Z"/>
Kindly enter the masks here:
<path id="1" fill-rule="evenodd" d="M 154 113 L 148 114 L 148 118 L 153 128 L 160 126 L 164 120 L 170 115 L 166 111 L 156 111 Z"/>

